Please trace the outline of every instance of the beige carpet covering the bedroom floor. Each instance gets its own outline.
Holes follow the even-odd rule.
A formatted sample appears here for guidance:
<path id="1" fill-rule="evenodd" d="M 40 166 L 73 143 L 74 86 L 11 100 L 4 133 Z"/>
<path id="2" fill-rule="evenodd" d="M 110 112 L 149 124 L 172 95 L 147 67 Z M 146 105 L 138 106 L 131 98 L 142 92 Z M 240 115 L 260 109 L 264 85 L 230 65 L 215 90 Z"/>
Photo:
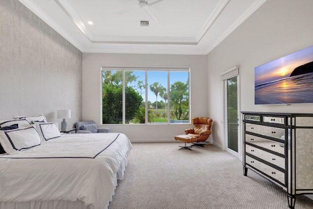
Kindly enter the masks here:
<path id="1" fill-rule="evenodd" d="M 179 142 L 133 143 L 124 179 L 109 209 L 288 209 L 287 193 L 207 144 L 179 150 Z M 296 197 L 295 209 L 313 209 Z"/>

